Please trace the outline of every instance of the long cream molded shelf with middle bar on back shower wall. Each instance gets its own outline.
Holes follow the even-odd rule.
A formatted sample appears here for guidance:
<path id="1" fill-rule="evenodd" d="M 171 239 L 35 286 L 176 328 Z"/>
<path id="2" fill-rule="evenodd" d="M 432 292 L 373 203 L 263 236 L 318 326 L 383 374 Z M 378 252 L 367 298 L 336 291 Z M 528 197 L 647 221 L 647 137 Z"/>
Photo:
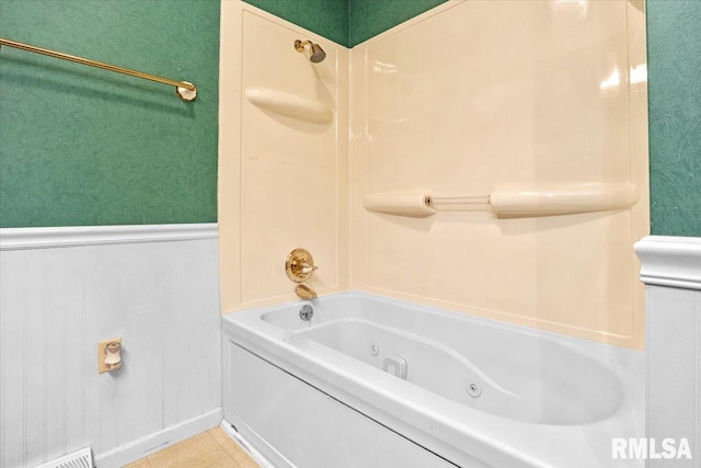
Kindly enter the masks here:
<path id="1" fill-rule="evenodd" d="M 382 193 L 367 195 L 363 205 L 369 212 L 420 218 L 437 212 L 491 212 L 499 218 L 526 218 L 627 209 L 637 196 L 630 183 L 586 183 L 496 189 L 484 196 Z"/>

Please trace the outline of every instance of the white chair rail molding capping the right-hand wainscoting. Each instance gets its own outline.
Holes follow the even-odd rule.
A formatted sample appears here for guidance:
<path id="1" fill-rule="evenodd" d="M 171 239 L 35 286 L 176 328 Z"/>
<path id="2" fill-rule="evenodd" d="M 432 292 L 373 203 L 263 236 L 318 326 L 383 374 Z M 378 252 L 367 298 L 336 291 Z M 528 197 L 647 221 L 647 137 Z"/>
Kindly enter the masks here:
<path id="1" fill-rule="evenodd" d="M 646 285 L 701 290 L 701 238 L 647 236 L 634 248 Z"/>

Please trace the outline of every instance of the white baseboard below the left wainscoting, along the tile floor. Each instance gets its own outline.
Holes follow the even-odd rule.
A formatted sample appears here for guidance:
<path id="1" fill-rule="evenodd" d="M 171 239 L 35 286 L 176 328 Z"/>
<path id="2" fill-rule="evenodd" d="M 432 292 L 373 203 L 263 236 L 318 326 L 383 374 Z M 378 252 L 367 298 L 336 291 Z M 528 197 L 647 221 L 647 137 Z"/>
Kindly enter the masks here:
<path id="1" fill-rule="evenodd" d="M 180 424 L 134 441 L 94 457 L 97 468 L 120 468 L 125 465 L 162 450 L 194 435 L 209 431 L 221 423 L 221 408 L 200 414 Z"/>

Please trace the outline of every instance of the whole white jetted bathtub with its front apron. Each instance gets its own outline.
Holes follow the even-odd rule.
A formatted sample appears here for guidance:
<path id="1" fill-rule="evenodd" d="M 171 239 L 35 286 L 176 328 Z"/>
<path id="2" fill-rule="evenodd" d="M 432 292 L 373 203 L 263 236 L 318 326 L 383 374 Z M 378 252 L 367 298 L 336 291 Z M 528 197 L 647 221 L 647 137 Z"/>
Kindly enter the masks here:
<path id="1" fill-rule="evenodd" d="M 644 436 L 641 352 L 361 293 L 223 331 L 225 419 L 276 467 L 643 466 L 611 450 Z"/>

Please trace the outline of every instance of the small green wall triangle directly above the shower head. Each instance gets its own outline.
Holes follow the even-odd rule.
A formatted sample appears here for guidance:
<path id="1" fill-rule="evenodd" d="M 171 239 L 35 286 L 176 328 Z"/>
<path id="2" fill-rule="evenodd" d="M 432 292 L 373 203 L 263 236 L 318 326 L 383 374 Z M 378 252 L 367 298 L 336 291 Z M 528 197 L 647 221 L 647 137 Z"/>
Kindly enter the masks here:
<path id="1" fill-rule="evenodd" d="M 336 44 L 348 43 L 347 0 L 245 0 Z"/>

